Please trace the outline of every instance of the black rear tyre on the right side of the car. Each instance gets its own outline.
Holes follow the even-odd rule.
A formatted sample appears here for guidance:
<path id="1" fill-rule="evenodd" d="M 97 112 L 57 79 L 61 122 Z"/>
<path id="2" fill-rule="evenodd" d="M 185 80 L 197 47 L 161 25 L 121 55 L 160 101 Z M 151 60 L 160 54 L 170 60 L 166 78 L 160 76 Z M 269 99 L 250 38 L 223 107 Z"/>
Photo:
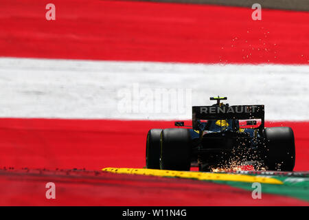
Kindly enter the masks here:
<path id="1" fill-rule="evenodd" d="M 290 127 L 264 129 L 266 139 L 265 165 L 268 170 L 293 171 L 295 166 L 295 142 Z"/>

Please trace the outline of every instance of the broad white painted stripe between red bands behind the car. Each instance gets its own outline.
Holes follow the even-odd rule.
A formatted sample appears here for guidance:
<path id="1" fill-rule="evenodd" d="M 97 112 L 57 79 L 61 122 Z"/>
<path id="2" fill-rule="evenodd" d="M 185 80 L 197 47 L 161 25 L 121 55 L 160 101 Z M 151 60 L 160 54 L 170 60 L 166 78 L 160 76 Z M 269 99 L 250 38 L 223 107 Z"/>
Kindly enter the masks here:
<path id="1" fill-rule="evenodd" d="M 229 104 L 265 104 L 266 120 L 309 120 L 308 65 L 203 65 L 0 58 L 0 117 L 190 119 L 175 113 L 126 113 L 119 90 L 192 89 Z"/>

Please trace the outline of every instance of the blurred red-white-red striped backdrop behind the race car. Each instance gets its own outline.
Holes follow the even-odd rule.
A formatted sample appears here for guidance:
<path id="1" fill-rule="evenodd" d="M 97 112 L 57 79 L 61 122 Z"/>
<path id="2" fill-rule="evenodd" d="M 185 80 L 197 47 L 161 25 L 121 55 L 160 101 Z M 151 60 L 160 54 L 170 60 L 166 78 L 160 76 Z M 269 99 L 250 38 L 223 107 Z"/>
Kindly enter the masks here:
<path id="1" fill-rule="evenodd" d="M 192 105 L 220 95 L 265 104 L 266 126 L 291 126 L 295 170 L 308 170 L 308 10 L 1 0 L 0 167 L 142 168 L 150 128 L 190 123 Z"/>

